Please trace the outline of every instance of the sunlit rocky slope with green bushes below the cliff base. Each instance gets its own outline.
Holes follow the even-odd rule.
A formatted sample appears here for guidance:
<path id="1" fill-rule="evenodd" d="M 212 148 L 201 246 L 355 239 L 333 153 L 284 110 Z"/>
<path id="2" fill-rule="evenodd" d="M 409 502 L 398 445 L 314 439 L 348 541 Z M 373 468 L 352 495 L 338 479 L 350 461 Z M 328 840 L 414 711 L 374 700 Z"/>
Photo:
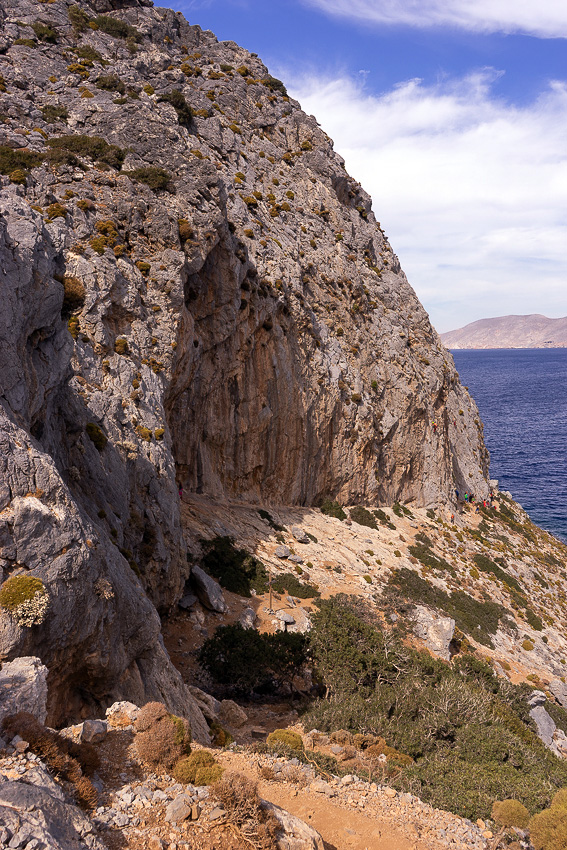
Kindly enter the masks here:
<path id="1" fill-rule="evenodd" d="M 443 511 L 399 505 L 345 508 L 343 521 L 316 509 L 265 514 L 188 501 L 188 527 L 235 541 L 230 572 L 216 570 L 208 554 L 203 566 L 234 586 L 236 550 L 248 568 L 247 550 L 278 592 L 275 617 L 265 592 L 231 595 L 220 628 L 198 603 L 179 612 L 165 628 L 179 669 L 194 675 L 187 648 L 203 641 L 205 625 L 200 658 L 217 696 L 265 693 L 274 682 L 285 692 L 282 656 L 310 671 L 296 682 L 307 692 L 319 686 L 301 720 L 319 730 L 315 748 L 329 736 L 340 745 L 338 766 L 327 770 L 382 776 L 473 819 L 509 797 L 532 814 L 549 805 L 567 783 L 565 545 L 504 494 L 497 508 L 464 506 L 454 522 Z M 205 548 L 226 552 L 225 541 Z M 263 635 L 232 625 L 250 606 Z M 311 630 L 276 641 L 271 632 L 284 615 L 288 628 L 301 631 L 307 618 Z"/>

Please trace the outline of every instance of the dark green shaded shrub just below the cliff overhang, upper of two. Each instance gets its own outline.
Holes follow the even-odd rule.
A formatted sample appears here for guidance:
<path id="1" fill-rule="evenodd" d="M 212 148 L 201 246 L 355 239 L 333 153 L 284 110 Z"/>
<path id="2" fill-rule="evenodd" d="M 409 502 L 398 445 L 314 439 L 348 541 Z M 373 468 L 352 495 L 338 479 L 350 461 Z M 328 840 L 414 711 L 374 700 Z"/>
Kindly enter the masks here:
<path id="1" fill-rule="evenodd" d="M 252 590 L 266 592 L 266 568 L 245 549 L 237 549 L 230 537 L 215 537 L 201 545 L 205 552 L 201 565 L 222 587 L 240 596 L 251 596 Z"/>

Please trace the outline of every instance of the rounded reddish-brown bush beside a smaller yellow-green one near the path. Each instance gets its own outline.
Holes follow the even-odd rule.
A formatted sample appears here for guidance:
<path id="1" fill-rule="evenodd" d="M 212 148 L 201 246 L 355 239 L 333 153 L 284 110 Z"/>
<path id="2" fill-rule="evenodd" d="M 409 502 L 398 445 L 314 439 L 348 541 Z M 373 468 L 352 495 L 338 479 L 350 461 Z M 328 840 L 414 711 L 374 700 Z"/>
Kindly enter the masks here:
<path id="1" fill-rule="evenodd" d="M 162 703 L 147 703 L 138 713 L 134 746 L 140 759 L 154 770 L 172 770 L 191 752 L 189 723 L 169 714 Z"/>

